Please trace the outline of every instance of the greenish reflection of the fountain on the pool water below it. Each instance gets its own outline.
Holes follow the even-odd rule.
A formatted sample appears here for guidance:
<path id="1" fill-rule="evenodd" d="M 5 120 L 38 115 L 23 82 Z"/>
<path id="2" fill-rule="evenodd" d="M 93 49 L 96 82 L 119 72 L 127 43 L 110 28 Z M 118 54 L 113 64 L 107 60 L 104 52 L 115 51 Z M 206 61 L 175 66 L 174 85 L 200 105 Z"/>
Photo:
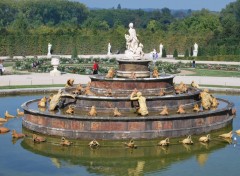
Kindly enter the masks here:
<path id="1" fill-rule="evenodd" d="M 227 127 L 225 131 L 231 127 Z M 24 133 L 33 133 L 24 129 Z M 35 144 L 30 137 L 21 142 L 21 146 L 33 153 L 47 156 L 56 168 L 74 165 L 84 166 L 90 173 L 103 175 L 143 175 L 143 173 L 164 170 L 173 163 L 195 156 L 200 166 L 204 166 L 208 155 L 228 145 L 218 138 L 219 132 L 211 134 L 213 141 L 198 142 L 199 136 L 192 137 L 194 145 L 179 143 L 179 138 L 171 139 L 169 146 L 157 146 L 157 140 L 136 140 L 137 149 L 126 148 L 123 141 L 100 141 L 97 149 L 88 146 L 89 141 L 72 140 L 71 146 L 61 146 L 60 138 L 47 136 L 46 143 Z M 217 139 L 217 140 L 215 140 Z"/>

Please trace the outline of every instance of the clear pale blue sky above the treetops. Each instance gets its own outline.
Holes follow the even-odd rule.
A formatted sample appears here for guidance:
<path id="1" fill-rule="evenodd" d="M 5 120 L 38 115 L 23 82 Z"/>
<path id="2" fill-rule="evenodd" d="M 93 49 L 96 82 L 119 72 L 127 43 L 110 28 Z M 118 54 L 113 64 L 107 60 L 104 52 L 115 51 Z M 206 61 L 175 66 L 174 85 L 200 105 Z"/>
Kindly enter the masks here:
<path id="1" fill-rule="evenodd" d="M 75 0 L 85 4 L 89 8 L 116 8 L 118 4 L 122 8 L 143 9 L 167 7 L 169 9 L 192 9 L 203 8 L 210 11 L 221 11 L 230 2 L 237 0 Z"/>

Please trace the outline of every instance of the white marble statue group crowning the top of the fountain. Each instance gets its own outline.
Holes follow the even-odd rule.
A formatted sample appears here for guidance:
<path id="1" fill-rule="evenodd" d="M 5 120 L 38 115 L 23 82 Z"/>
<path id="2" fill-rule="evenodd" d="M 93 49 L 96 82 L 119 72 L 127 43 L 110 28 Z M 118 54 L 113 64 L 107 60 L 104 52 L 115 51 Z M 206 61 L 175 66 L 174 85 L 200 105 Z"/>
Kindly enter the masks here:
<path id="1" fill-rule="evenodd" d="M 137 38 L 136 30 L 133 28 L 133 23 L 129 23 L 129 34 L 125 34 L 126 48 L 125 57 L 126 59 L 142 59 L 144 56 L 143 44 L 139 43 Z"/>

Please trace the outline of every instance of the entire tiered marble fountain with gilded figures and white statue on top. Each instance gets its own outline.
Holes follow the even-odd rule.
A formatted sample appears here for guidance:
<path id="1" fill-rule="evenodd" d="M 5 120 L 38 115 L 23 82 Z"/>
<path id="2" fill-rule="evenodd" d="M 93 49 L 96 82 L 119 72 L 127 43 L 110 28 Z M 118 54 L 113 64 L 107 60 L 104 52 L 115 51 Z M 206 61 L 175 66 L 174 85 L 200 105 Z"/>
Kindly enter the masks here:
<path id="1" fill-rule="evenodd" d="M 115 77 L 113 70 L 110 76 L 92 75 L 86 87 L 61 89 L 45 108 L 38 108 L 39 99 L 24 103 L 23 126 L 73 139 L 119 140 L 201 134 L 232 123 L 232 103 L 217 99 L 217 107 L 209 107 L 212 95 L 207 90 L 174 86 L 173 75 L 152 76 L 151 60 L 144 59 L 143 45 L 131 23 L 129 27 L 125 58 L 117 60 Z M 166 107 L 167 113 L 161 113 Z M 66 113 L 69 108 L 72 113 Z"/>

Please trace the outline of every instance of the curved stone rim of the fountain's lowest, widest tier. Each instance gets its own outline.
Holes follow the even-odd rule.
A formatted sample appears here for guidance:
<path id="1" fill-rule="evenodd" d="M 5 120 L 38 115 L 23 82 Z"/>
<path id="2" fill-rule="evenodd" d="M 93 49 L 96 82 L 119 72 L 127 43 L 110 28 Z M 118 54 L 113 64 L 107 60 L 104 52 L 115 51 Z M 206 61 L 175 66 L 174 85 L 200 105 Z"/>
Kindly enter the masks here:
<path id="1" fill-rule="evenodd" d="M 202 111 L 202 112 L 198 112 L 198 113 L 189 113 L 189 114 L 174 114 L 174 115 L 170 115 L 170 116 L 137 116 L 137 117 L 126 117 L 126 116 L 122 116 L 122 117 L 101 117 L 101 116 L 96 116 L 96 117 L 91 117 L 91 116 L 87 116 L 83 115 L 83 116 L 73 116 L 73 115 L 60 115 L 60 114 L 51 114 L 51 113 L 43 113 L 37 110 L 33 110 L 33 109 L 29 109 L 28 108 L 28 104 L 30 103 L 34 103 L 36 102 L 37 99 L 35 100 L 30 100 L 27 101 L 25 103 L 23 103 L 21 105 L 21 107 L 24 109 L 24 111 L 29 112 L 31 114 L 37 114 L 37 115 L 41 115 L 41 116 L 47 116 L 47 117 L 53 117 L 53 118 L 62 118 L 62 119 L 78 119 L 78 120 L 86 120 L 86 121 L 152 121 L 152 120 L 160 120 L 160 121 L 164 121 L 164 120 L 183 120 L 183 119 L 190 119 L 190 118 L 201 118 L 203 116 L 209 116 L 209 115 L 215 115 L 218 113 L 222 113 L 223 111 L 229 111 L 231 110 L 231 108 L 234 106 L 233 103 L 224 100 L 224 99 L 220 99 L 218 98 L 218 101 L 223 101 L 225 103 L 227 103 L 227 106 L 221 109 L 217 109 L 217 110 L 208 110 L 208 111 Z"/>

